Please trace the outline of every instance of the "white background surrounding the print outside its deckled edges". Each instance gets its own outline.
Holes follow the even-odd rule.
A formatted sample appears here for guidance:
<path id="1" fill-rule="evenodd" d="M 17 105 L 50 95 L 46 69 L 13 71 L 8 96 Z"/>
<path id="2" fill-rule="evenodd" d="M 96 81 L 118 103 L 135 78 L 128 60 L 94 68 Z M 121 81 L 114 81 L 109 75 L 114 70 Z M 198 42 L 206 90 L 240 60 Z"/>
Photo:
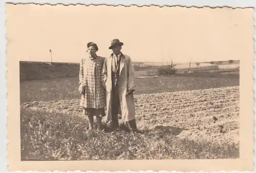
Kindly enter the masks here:
<path id="1" fill-rule="evenodd" d="M 0 115 L 5 115 L 2 116 L 2 120 L 0 121 L 0 148 L 1 148 L 1 157 L 0 157 L 0 172 L 8 172 L 7 171 L 7 131 L 6 131 L 6 124 L 7 124 L 7 87 L 6 87 L 6 9 L 5 9 L 5 3 L 13 3 L 13 4 L 48 4 L 48 5 L 57 5 L 57 4 L 62 4 L 62 5 L 76 5 L 76 4 L 82 4 L 82 5 L 108 5 L 108 6 L 159 6 L 159 7 L 164 7 L 164 6 L 181 6 L 181 7 L 196 7 L 196 8 L 203 8 L 203 7 L 210 7 L 210 8 L 217 8 L 217 7 L 231 7 L 233 9 L 235 8 L 247 8 L 247 7 L 252 7 L 254 8 L 254 13 L 253 13 L 253 18 L 254 18 L 254 34 L 253 34 L 253 40 L 254 40 L 254 61 L 253 61 L 253 67 L 256 67 L 256 1 L 255 0 L 214 0 L 214 1 L 206 1 L 206 0 L 193 0 L 193 1 L 185 1 L 185 0 L 140 0 L 140 1 L 135 1 L 135 0 L 130 0 L 130 1 L 115 1 L 115 0 L 90 0 L 90 1 L 82 1 L 82 0 L 39 0 L 39 1 L 26 1 L 26 0 L 3 0 L 1 1 L 0 4 L 0 20 L 1 20 L 1 25 L 0 25 L 0 30 L 3 34 L 0 35 L 0 79 L 2 80 L 2 83 L 4 85 L 1 85 L 1 90 L 0 90 L 0 110 L 1 114 Z M 255 80 L 256 78 L 256 71 L 254 70 L 253 73 L 253 79 Z M 4 86 L 4 87 L 3 87 Z M 256 98 L 256 86 L 254 84 L 254 100 Z M 255 118 L 255 112 L 256 112 L 256 103 L 254 103 L 253 107 L 253 112 L 254 112 L 254 124 L 256 123 L 256 118 Z M 254 125 L 254 132 L 256 130 L 256 127 Z M 254 140 L 256 139 L 256 135 L 254 134 Z M 254 151 L 256 150 L 256 146 L 254 144 Z M 254 156 L 253 163 L 255 165 L 256 163 L 256 157 Z M 24 172 L 24 171 L 15 171 L 15 172 Z M 25 171 L 25 172 L 37 172 L 37 171 Z M 45 171 L 45 172 L 50 172 L 50 171 Z M 62 172 L 62 171 L 53 171 L 53 172 Z M 67 171 L 67 172 L 82 172 L 82 171 Z M 84 172 L 84 171 L 83 171 Z M 95 171 L 87 171 L 87 172 L 95 172 Z M 110 172 L 110 171 L 100 171 L 100 172 Z M 123 172 L 123 171 L 116 171 L 116 172 Z M 126 171 L 126 172 L 134 172 L 134 171 Z M 153 171 L 140 171 L 140 172 L 153 172 Z M 159 172 L 168 172 L 168 171 L 159 171 Z M 181 172 L 181 171 L 171 171 L 171 172 Z M 194 171 L 191 171 L 194 172 Z M 204 172 L 204 171 L 199 171 L 199 172 Z M 220 171 L 220 172 L 226 172 L 226 171 Z M 232 171 L 232 172 L 243 172 L 243 171 Z M 256 172 L 256 169 L 254 167 L 254 171 L 244 171 L 244 172 Z"/>

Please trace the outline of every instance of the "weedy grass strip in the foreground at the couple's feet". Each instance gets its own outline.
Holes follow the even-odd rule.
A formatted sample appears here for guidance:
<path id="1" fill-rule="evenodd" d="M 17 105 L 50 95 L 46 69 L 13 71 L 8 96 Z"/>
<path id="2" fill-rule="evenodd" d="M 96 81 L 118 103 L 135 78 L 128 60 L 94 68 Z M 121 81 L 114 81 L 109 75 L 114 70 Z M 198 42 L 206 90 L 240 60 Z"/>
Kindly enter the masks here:
<path id="1" fill-rule="evenodd" d="M 87 119 L 20 110 L 22 160 L 226 159 L 239 144 L 179 139 L 168 133 L 90 132 Z"/>

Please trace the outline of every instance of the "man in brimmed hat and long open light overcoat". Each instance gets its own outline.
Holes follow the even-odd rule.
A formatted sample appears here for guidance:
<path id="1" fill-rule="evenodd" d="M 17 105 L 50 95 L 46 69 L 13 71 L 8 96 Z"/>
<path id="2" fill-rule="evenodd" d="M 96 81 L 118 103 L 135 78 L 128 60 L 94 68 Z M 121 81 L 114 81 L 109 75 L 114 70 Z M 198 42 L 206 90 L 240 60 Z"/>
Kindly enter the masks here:
<path id="1" fill-rule="evenodd" d="M 130 56 L 121 52 L 123 43 L 113 39 L 111 46 L 113 53 L 105 58 L 102 79 L 106 89 L 106 115 L 111 121 L 111 128 L 119 127 L 118 114 L 124 123 L 133 132 L 137 131 L 135 121 L 135 104 L 133 92 L 135 91 L 135 73 Z"/>

